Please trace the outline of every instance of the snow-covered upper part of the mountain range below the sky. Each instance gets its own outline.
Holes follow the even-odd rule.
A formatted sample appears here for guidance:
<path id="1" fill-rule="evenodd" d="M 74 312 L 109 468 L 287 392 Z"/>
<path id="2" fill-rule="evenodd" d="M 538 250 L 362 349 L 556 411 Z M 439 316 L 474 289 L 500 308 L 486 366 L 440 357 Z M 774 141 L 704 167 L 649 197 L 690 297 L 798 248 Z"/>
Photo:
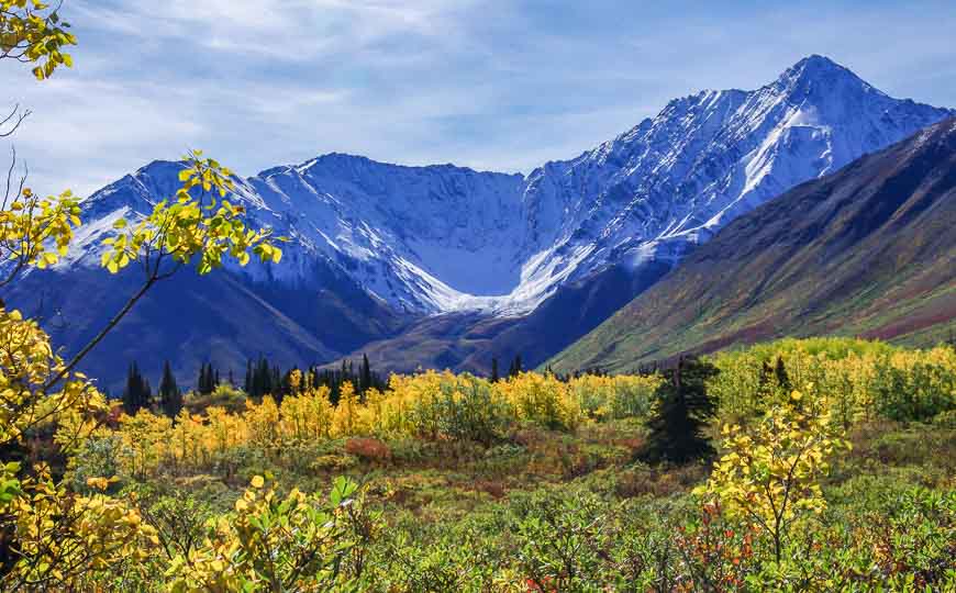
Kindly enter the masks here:
<path id="1" fill-rule="evenodd" d="M 332 154 L 241 180 L 236 199 L 288 235 L 254 280 L 310 284 L 334 265 L 389 305 L 526 313 L 609 265 L 676 261 L 736 215 L 952 113 L 898 100 L 811 56 L 754 91 L 702 91 L 593 150 L 527 177 Z M 85 202 L 70 262 L 120 215 L 170 195 L 154 163 Z"/>

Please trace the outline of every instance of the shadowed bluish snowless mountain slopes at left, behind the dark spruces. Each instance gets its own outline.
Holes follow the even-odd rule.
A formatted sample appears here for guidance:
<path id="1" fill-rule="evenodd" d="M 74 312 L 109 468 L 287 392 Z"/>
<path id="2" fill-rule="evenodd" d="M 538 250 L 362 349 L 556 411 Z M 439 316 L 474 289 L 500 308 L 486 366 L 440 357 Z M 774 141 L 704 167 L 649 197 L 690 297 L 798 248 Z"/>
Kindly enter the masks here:
<path id="1" fill-rule="evenodd" d="M 54 344 L 78 351 L 142 284 L 138 270 L 108 277 L 79 268 L 68 273 L 31 273 L 4 298 L 24 314 L 45 320 Z M 97 346 L 82 369 L 114 394 L 129 362 L 156 378 L 169 360 L 182 384 L 211 361 L 238 380 L 248 358 L 264 355 L 286 366 L 331 360 L 359 345 L 393 335 L 405 320 L 329 278 L 319 290 L 293 291 L 248 282 L 231 272 L 199 277 L 182 270 L 158 282 Z"/>

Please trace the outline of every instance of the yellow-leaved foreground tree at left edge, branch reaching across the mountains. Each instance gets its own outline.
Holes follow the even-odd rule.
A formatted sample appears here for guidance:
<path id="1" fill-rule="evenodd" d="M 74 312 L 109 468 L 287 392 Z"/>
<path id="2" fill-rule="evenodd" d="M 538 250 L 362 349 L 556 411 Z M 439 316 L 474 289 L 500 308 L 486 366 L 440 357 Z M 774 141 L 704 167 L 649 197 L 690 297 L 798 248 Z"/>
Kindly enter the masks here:
<path id="1" fill-rule="evenodd" d="M 66 31 L 69 25 L 60 20 L 58 5 L 0 0 L 0 60 L 33 65 L 40 80 L 60 66 L 71 66 L 64 48 L 76 44 L 76 38 Z M 10 135 L 29 114 L 18 112 L 14 108 L 0 120 L 0 136 Z M 11 121 L 12 130 L 2 130 Z M 69 191 L 42 198 L 25 187 L 25 176 L 15 181 L 14 169 L 9 171 L 0 205 L 0 260 L 7 262 L 0 288 L 26 268 L 56 264 L 81 225 L 79 203 Z M 281 258 L 271 231 L 249 227 L 244 209 L 225 200 L 233 188 L 227 168 L 196 150 L 185 158 L 179 180 L 175 195 L 156 203 L 136 224 L 116 220 L 113 236 L 102 242 L 100 265 L 118 273 L 135 264 L 144 272 L 143 283 L 73 358 L 64 360 L 36 321 L 7 310 L 0 299 L 0 451 L 22 446 L 24 435 L 41 424 L 54 425 L 62 452 L 75 451 L 82 436 L 98 426 L 98 416 L 109 412 L 95 383 L 76 372 L 77 366 L 156 282 L 193 262 L 204 275 L 222 267 L 226 258 L 245 266 L 249 253 L 263 261 Z M 134 412 L 148 405 L 149 399 L 148 382 L 131 365 L 124 406 Z M 89 586 L 90 574 L 142 559 L 153 551 L 152 545 L 158 545 L 132 500 L 80 495 L 55 480 L 44 463 L 24 472 L 20 463 L 3 461 L 0 533 L 4 560 L 12 561 L 4 563 L 0 589 L 99 589 Z M 109 480 L 96 478 L 88 485 L 105 490 Z"/>

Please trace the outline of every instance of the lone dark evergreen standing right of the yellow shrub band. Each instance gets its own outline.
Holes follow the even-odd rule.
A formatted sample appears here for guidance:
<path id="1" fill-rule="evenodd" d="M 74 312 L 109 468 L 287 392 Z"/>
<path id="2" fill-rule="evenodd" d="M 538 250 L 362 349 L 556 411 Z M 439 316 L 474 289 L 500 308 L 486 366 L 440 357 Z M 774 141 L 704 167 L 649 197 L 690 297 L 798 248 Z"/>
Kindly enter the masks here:
<path id="1" fill-rule="evenodd" d="M 694 357 L 680 358 L 667 372 L 657 412 L 647 423 L 651 435 L 642 451 L 644 460 L 682 465 L 714 454 L 704 428 L 716 412 L 707 381 L 718 372 L 716 367 Z"/>

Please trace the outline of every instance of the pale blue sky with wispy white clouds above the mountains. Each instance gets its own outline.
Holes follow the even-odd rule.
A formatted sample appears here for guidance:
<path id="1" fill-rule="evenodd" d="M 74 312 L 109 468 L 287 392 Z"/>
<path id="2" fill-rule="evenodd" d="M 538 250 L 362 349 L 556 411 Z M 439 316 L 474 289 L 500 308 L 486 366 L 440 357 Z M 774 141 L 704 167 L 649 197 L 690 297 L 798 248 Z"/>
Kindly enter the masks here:
<path id="1" fill-rule="evenodd" d="M 529 172 L 668 100 L 758 88 L 822 54 L 956 108 L 946 1 L 64 0 L 75 67 L 0 63 L 43 193 L 202 148 L 240 175 L 340 152 Z"/>

